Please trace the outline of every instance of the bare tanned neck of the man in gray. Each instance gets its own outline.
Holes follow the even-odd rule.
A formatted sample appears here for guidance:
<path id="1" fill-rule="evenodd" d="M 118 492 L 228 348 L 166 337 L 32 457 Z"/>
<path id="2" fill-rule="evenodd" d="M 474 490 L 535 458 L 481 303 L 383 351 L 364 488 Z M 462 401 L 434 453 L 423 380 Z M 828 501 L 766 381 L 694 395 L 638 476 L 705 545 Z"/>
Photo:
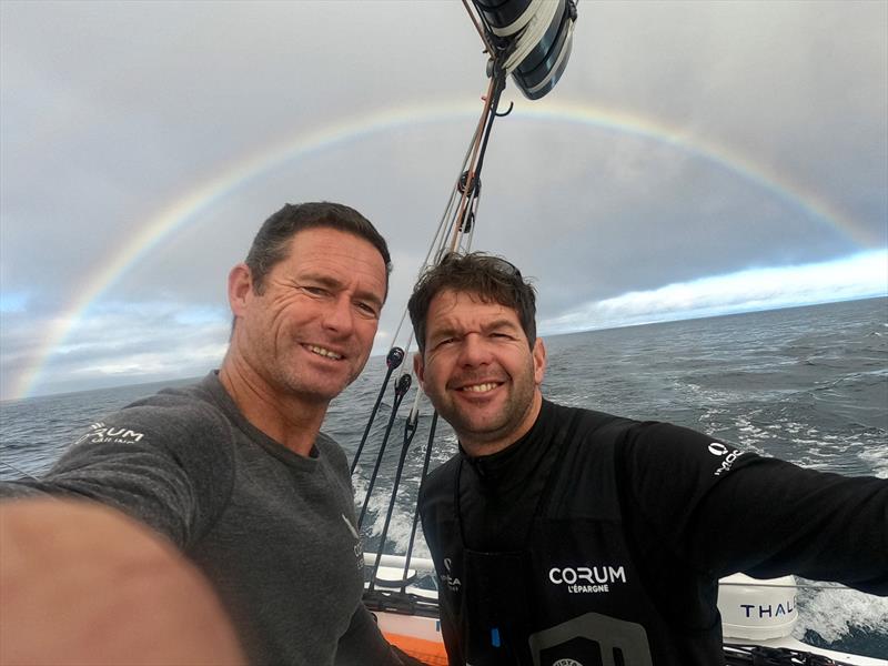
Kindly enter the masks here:
<path id="1" fill-rule="evenodd" d="M 252 425 L 293 453 L 311 454 L 329 402 L 275 391 L 231 350 L 219 370 L 219 381 Z"/>

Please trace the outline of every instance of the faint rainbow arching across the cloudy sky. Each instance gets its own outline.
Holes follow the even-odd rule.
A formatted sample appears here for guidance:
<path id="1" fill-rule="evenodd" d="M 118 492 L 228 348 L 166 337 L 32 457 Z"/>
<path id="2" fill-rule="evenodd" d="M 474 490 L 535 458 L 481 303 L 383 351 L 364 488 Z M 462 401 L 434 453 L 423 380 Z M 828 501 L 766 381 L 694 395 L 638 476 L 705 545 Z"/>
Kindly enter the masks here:
<path id="1" fill-rule="evenodd" d="M 737 150 L 693 135 L 684 129 L 669 127 L 655 119 L 626 111 L 609 110 L 585 103 L 543 100 L 525 104 L 526 102 L 515 111 L 515 118 L 532 122 L 573 123 L 667 144 L 693 157 L 713 162 L 754 183 L 777 199 L 801 209 L 813 220 L 833 228 L 837 233 L 859 246 L 872 246 L 879 242 L 849 215 L 830 205 L 817 193 L 780 176 L 765 164 L 755 162 Z M 38 346 L 39 351 L 34 356 L 34 362 L 22 371 L 12 383 L 12 397 L 28 397 L 32 393 L 54 351 L 64 343 L 78 322 L 85 316 L 90 306 L 104 292 L 167 239 L 198 219 L 203 211 L 232 195 L 245 184 L 285 163 L 333 147 L 404 127 L 476 119 L 480 113 L 481 102 L 477 100 L 381 109 L 313 130 L 296 132 L 251 154 L 242 155 L 233 163 L 222 165 L 216 174 L 193 189 L 182 192 L 145 220 L 140 231 L 130 236 L 122 248 L 109 252 L 109 261 L 98 262 L 102 266 L 101 270 L 89 275 L 79 285 L 75 290 L 78 296 L 61 315 L 56 317 L 56 323 L 46 331 Z M 471 127 L 468 124 L 467 129 Z"/>

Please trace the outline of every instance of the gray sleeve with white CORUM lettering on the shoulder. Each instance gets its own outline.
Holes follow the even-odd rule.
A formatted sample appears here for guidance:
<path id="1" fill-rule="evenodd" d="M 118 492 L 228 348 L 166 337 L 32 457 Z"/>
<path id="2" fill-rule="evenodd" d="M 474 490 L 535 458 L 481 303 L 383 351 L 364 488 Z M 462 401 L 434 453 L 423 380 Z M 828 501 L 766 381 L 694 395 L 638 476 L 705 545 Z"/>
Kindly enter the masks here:
<path id="1" fill-rule="evenodd" d="M 0 484 L 0 497 L 94 500 L 186 549 L 230 496 L 231 426 L 209 405 L 159 402 L 93 423 L 43 478 Z"/>

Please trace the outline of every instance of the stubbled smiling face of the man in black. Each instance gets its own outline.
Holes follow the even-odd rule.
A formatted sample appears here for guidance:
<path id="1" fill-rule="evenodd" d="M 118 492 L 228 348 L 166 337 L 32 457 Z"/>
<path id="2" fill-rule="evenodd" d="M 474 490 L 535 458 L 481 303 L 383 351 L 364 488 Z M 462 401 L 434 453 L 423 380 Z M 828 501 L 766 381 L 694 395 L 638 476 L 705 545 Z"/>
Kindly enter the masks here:
<path id="1" fill-rule="evenodd" d="M 533 347 L 514 310 L 443 290 L 426 316 L 416 376 L 471 455 L 502 451 L 534 424 L 546 351 Z"/>

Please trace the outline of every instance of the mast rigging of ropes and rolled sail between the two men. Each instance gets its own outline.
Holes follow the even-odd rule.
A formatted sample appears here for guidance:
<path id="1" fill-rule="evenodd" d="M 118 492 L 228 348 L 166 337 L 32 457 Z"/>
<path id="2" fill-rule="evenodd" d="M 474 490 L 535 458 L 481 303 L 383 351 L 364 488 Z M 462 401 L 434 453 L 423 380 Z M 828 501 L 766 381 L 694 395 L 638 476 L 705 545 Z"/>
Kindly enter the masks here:
<path id="1" fill-rule="evenodd" d="M 487 90 L 482 97 L 484 104 L 481 115 L 453 184 L 444 214 L 421 266 L 421 272 L 436 265 L 452 252 L 468 252 L 471 250 L 481 195 L 481 172 L 493 124 L 497 118 L 508 115 L 512 111 L 512 104 L 504 112 L 498 110 L 500 99 L 503 90 L 505 90 L 506 81 L 511 75 L 518 90 L 529 100 L 537 100 L 551 92 L 567 67 L 574 23 L 577 17 L 574 0 L 506 0 L 505 2 L 502 0 L 472 0 L 471 3 L 467 0 L 463 0 L 463 6 L 474 23 L 484 44 L 484 52 L 487 54 L 486 73 L 488 83 Z M 351 464 L 352 474 L 354 475 L 361 463 L 362 454 L 365 452 L 365 444 L 371 435 L 373 422 L 385 396 L 386 387 L 390 383 L 393 383 L 392 407 L 384 435 L 376 448 L 373 473 L 369 480 L 363 504 L 360 507 L 359 531 L 364 527 L 364 518 L 369 515 L 371 498 L 397 411 L 412 384 L 411 370 L 401 367 L 402 361 L 407 355 L 413 343 L 412 331 L 407 332 L 407 340 L 404 346 L 397 346 L 402 327 L 406 322 L 406 314 L 405 307 L 393 336 L 394 346 L 392 346 L 386 356 L 389 369 L 385 379 L 364 430 L 363 438 Z M 401 367 L 400 373 L 393 379 L 393 374 L 398 367 Z M 367 563 L 371 574 L 367 591 L 364 595 L 364 603 L 375 610 L 398 609 L 401 613 L 416 614 L 422 613 L 427 605 L 427 602 L 411 598 L 413 595 L 405 593 L 418 518 L 415 508 L 404 572 L 398 585 L 401 589 L 398 592 L 391 589 L 380 591 L 375 587 L 376 574 L 385 551 L 392 515 L 398 494 L 402 492 L 401 482 L 405 461 L 420 422 L 421 398 L 422 394 L 417 389 L 410 415 L 404 422 L 403 445 L 398 455 L 393 487 L 389 495 L 387 511 L 379 544 L 374 548 L 376 552 L 374 562 Z M 436 423 L 437 414 L 433 413 L 425 451 L 422 454 L 424 463 L 420 482 L 428 472 Z M 413 483 L 415 483 L 415 480 L 411 480 L 411 484 Z"/>

